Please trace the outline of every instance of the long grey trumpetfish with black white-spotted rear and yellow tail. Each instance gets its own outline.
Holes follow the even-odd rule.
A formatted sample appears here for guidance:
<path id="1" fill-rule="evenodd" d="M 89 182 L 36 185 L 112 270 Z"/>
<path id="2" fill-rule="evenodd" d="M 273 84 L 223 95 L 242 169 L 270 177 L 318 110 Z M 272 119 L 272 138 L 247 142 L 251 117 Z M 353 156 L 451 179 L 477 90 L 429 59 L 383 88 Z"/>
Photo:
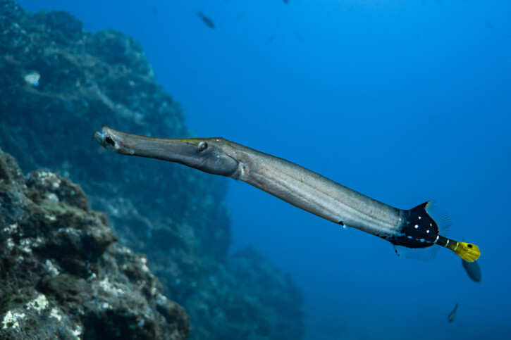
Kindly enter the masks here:
<path id="1" fill-rule="evenodd" d="M 479 247 L 441 235 L 431 201 L 410 210 L 388 206 L 283 158 L 221 137 L 164 139 L 113 130 L 94 132 L 101 146 L 129 156 L 180 163 L 213 175 L 251 184 L 297 208 L 386 239 L 398 248 L 443 246 L 463 260 L 479 258 Z M 437 218 L 438 220 L 438 218 Z"/>

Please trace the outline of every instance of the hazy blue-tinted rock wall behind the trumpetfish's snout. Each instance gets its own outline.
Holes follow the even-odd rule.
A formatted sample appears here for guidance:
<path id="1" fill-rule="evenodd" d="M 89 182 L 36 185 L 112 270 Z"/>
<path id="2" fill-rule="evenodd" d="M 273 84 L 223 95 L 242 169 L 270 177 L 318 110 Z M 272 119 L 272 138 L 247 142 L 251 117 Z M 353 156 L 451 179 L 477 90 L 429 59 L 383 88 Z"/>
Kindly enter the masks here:
<path id="1" fill-rule="evenodd" d="M 0 0 L 0 32 L 0 147 L 16 157 L 24 172 L 44 169 L 39 173 L 56 173 L 61 182 L 69 177 L 80 184 L 89 206 L 104 212 L 111 235 L 118 239 L 118 244 L 113 236 L 109 245 L 96 244 L 98 235 L 91 229 L 83 239 L 55 234 L 67 242 L 61 245 L 74 249 L 78 241 L 90 242 L 82 255 L 98 261 L 115 248 L 144 254 L 147 267 L 162 284 L 162 296 L 176 301 L 190 316 L 191 339 L 300 339 L 302 302 L 290 277 L 257 251 L 228 256 L 229 217 L 223 203 L 227 186 L 222 178 L 172 163 L 104 153 L 91 141 L 101 125 L 159 137 L 190 137 L 183 109 L 154 80 L 140 45 L 113 30 L 87 32 L 66 12 L 27 13 L 11 0 Z M 61 211 L 61 198 L 54 194 L 58 201 L 51 196 L 33 204 Z M 87 214 L 95 214 L 85 209 L 85 199 L 75 206 L 66 204 L 79 204 Z M 44 239 L 44 244 L 51 240 Z M 45 256 L 59 257 L 65 251 L 66 246 L 47 246 Z M 120 261 L 111 262 L 118 269 L 130 267 L 132 260 L 142 261 L 133 254 L 124 260 L 115 254 L 112 258 Z M 46 258 L 37 259 L 44 259 L 37 264 L 43 267 Z M 87 261 L 82 261 L 63 260 L 59 272 L 86 282 Z M 102 268 L 106 277 L 111 268 Z M 125 276 L 130 279 L 128 273 Z M 38 281 L 23 300 L 57 294 L 51 286 Z M 121 290 L 125 289 L 128 286 Z M 94 294 L 90 298 L 98 302 Z M 85 307 L 78 301 L 73 308 Z M 72 315 L 73 308 L 63 312 Z M 0 317 L 8 310 L 0 306 Z M 108 317 L 106 312 L 102 315 Z"/>

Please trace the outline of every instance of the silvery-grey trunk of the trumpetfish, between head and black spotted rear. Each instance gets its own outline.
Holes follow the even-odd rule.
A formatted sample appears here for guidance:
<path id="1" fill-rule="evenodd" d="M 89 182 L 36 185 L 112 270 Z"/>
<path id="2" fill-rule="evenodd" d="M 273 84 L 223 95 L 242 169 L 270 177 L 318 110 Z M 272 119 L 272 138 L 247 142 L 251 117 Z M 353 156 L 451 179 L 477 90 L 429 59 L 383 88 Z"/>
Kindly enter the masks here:
<path id="1" fill-rule="evenodd" d="M 404 212 L 288 160 L 226 141 L 240 166 L 230 177 L 334 223 L 379 237 L 400 232 Z"/>

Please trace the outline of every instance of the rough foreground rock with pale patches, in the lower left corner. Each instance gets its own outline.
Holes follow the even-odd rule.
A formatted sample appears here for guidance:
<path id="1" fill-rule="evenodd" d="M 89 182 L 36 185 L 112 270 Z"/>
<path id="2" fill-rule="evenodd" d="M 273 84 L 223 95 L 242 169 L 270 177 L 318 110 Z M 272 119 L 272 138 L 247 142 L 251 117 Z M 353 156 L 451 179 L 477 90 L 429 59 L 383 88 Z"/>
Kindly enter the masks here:
<path id="1" fill-rule="evenodd" d="M 0 339 L 187 339 L 183 308 L 115 240 L 77 184 L 25 178 L 0 149 Z"/>

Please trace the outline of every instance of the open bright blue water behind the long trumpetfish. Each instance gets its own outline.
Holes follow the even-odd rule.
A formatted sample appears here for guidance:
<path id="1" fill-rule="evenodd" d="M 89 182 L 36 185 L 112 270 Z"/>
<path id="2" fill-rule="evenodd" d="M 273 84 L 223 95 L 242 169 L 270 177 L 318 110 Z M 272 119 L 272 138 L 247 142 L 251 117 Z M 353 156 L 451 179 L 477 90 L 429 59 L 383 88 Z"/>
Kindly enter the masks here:
<path id="1" fill-rule="evenodd" d="M 398 208 L 435 199 L 450 237 L 481 247 L 476 284 L 446 249 L 402 260 L 386 241 L 229 180 L 232 250 L 252 245 L 293 275 L 306 339 L 509 339 L 511 1 L 20 4 L 136 39 L 197 136 Z"/>

